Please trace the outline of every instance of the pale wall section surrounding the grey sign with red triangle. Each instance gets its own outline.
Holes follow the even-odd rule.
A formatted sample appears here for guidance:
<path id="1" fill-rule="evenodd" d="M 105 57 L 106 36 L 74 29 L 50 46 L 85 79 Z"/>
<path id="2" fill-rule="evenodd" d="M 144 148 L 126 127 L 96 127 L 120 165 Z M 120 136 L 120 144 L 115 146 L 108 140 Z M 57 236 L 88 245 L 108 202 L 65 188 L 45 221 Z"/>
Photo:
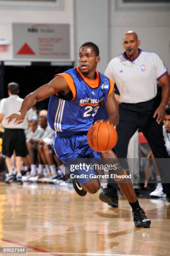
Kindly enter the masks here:
<path id="1" fill-rule="evenodd" d="M 0 8 L 0 38 L 11 41 L 7 53 L 0 52 L 0 60 L 13 60 L 12 23 L 69 23 L 71 26 L 71 59 L 74 60 L 74 1 L 64 0 L 63 10 L 17 10 Z M 23 61 L 23 59 L 22 59 Z M 34 60 L 35 61 L 35 60 Z M 47 59 L 45 61 L 48 61 Z M 49 61 L 51 61 L 49 59 Z M 53 59 L 54 61 L 54 59 Z"/>

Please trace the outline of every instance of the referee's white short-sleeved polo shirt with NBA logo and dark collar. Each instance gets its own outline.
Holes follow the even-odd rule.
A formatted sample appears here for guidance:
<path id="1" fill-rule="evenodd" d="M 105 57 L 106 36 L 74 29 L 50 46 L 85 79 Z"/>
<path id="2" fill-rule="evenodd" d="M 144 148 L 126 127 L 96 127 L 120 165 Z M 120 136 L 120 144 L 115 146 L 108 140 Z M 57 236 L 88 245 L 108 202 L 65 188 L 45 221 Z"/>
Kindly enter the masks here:
<path id="1" fill-rule="evenodd" d="M 105 75 L 112 79 L 119 90 L 120 101 L 138 103 L 157 95 L 157 82 L 167 74 L 160 57 L 154 52 L 140 50 L 132 61 L 125 53 L 112 59 Z"/>

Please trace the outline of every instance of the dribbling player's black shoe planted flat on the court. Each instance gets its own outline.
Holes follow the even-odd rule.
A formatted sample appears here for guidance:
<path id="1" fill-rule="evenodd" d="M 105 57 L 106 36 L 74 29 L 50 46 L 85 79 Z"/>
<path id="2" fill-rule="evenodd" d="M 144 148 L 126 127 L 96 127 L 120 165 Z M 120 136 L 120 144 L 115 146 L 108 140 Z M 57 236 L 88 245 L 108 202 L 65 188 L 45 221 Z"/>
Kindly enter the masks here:
<path id="1" fill-rule="evenodd" d="M 132 211 L 134 225 L 137 228 L 150 228 L 151 221 L 146 217 L 144 210 L 140 207 Z"/>

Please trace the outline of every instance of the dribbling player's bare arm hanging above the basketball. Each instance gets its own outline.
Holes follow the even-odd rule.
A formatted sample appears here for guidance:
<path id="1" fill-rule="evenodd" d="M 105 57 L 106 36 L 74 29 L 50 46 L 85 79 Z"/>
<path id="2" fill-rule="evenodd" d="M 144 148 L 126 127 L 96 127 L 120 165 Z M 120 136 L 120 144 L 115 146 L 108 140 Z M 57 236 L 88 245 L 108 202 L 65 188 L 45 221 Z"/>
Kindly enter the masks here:
<path id="1" fill-rule="evenodd" d="M 119 108 L 117 100 L 114 97 L 114 90 L 107 98 L 106 109 L 108 114 L 107 121 L 109 121 L 113 126 L 117 125 L 119 123 Z"/>

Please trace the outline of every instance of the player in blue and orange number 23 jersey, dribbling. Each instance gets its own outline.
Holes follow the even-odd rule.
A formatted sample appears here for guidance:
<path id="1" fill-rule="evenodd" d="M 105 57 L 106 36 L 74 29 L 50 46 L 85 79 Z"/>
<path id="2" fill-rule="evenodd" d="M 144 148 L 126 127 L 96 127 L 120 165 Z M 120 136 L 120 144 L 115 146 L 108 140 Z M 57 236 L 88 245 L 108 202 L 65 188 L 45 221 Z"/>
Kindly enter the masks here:
<path id="1" fill-rule="evenodd" d="M 96 71 L 99 61 L 98 46 L 91 42 L 84 43 L 79 49 L 79 67 L 57 74 L 48 84 L 27 95 L 20 113 L 10 115 L 8 122 L 16 118 L 15 124 L 22 123 L 25 114 L 36 102 L 51 96 L 48 105 L 48 122 L 55 131 L 56 154 L 64 163 L 70 158 L 100 159 L 101 156 L 115 158 L 113 151 L 104 152 L 100 156 L 100 153 L 92 150 L 87 143 L 87 131 L 93 125 L 95 115 L 101 106 L 106 107 L 107 122 L 112 125 L 117 125 L 119 122 L 114 83 L 104 74 Z M 124 174 L 121 166 L 119 173 Z M 84 192 L 84 195 L 86 192 L 94 194 L 100 189 L 100 182 L 98 179 L 90 178 L 74 179 L 74 187 L 77 187 L 76 191 L 79 195 L 81 192 Z M 149 228 L 151 222 L 139 205 L 132 183 L 119 183 L 119 187 L 132 207 L 135 226 Z"/>

